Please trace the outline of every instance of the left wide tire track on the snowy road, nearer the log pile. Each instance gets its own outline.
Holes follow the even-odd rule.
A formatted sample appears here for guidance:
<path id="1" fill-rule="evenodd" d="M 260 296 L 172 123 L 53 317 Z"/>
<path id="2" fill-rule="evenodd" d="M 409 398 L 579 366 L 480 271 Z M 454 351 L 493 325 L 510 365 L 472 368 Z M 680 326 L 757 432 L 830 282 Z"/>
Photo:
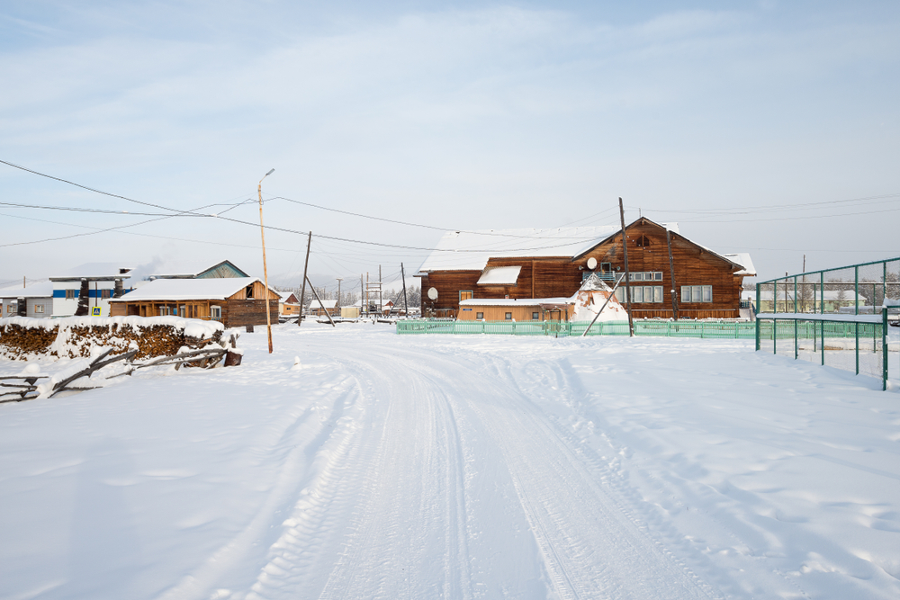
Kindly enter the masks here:
<path id="1" fill-rule="evenodd" d="M 368 360 L 345 357 L 357 377 L 378 380 L 370 388 L 387 411 L 365 507 L 320 598 L 470 598 L 465 461 L 452 409 L 418 378 L 392 381 Z"/>

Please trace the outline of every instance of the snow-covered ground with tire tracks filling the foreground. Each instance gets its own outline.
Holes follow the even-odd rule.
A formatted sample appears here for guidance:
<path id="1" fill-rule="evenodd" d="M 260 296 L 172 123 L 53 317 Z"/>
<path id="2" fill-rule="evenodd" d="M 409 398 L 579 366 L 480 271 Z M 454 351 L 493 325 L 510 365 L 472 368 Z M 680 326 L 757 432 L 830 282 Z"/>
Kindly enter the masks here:
<path id="1" fill-rule="evenodd" d="M 0 405 L 0 598 L 900 597 L 878 380 L 752 341 L 239 344 Z"/>

